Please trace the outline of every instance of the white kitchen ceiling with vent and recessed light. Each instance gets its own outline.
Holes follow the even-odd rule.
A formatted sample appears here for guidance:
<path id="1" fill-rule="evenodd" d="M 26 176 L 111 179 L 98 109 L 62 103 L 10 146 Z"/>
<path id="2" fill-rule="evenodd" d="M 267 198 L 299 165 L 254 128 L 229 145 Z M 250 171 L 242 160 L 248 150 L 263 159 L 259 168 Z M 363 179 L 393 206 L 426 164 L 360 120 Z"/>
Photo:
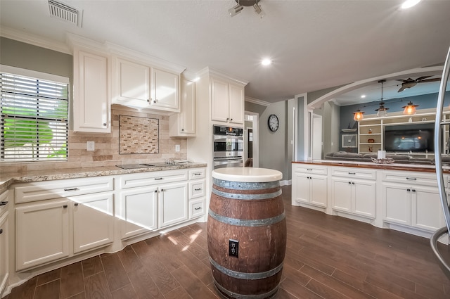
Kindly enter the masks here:
<path id="1" fill-rule="evenodd" d="M 443 65 L 450 46 L 450 1 L 444 0 L 423 0 L 407 11 L 399 0 L 261 0 L 264 18 L 251 6 L 231 17 L 234 0 L 62 2 L 83 11 L 82 27 L 51 18 L 46 0 L 0 0 L 1 34 L 20 30 L 65 43 L 65 32 L 72 32 L 191 73 L 210 67 L 250 82 L 245 96 L 267 102 Z M 273 64 L 259 65 L 264 57 Z M 345 105 L 349 98 L 336 101 Z"/>

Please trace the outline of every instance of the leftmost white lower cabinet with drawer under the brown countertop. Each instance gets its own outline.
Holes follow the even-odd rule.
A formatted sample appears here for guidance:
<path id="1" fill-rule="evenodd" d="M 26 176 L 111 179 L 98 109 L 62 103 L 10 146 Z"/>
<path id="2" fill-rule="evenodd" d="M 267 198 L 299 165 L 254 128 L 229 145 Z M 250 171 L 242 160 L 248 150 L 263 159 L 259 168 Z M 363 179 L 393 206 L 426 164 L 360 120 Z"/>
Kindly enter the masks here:
<path id="1" fill-rule="evenodd" d="M 326 168 L 296 167 L 293 170 L 293 205 L 306 203 L 326 208 L 328 177 Z"/>

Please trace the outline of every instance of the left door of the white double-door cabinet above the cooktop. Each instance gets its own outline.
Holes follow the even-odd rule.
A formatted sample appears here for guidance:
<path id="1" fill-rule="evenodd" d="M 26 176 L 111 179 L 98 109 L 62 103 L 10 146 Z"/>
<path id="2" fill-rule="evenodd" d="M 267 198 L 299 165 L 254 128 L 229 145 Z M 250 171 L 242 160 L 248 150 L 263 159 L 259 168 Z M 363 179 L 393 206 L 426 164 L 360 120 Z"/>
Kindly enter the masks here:
<path id="1" fill-rule="evenodd" d="M 117 58 L 117 96 L 129 106 L 150 103 L 150 68 Z"/>

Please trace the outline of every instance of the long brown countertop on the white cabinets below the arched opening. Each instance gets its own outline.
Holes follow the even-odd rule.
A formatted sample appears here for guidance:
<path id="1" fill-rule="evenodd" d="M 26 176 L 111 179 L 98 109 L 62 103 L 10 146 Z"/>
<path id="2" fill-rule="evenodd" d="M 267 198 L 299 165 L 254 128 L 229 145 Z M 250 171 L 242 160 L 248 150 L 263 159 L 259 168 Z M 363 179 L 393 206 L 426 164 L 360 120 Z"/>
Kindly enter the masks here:
<path id="1" fill-rule="evenodd" d="M 293 161 L 293 163 L 323 165 L 323 166 L 371 168 L 375 170 L 401 170 L 401 171 L 436 173 L 435 165 L 418 165 L 418 164 L 401 164 L 401 163 L 375 164 L 370 162 L 352 162 L 352 161 L 342 162 L 338 160 Z M 444 166 L 443 170 L 444 173 L 450 173 L 450 167 L 448 165 Z"/>

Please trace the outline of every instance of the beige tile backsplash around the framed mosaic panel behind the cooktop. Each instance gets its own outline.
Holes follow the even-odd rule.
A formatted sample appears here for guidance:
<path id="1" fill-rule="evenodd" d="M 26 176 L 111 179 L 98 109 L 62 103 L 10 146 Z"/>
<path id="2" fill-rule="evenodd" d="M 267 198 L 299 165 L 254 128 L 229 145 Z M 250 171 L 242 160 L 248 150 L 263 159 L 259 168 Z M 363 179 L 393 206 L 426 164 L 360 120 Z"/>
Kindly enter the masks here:
<path id="1" fill-rule="evenodd" d="M 119 153 L 120 141 L 122 146 L 136 148 L 133 139 L 120 140 L 119 117 L 120 115 L 142 117 L 143 119 L 158 120 L 158 153 Z M 113 105 L 111 108 L 111 133 L 85 133 L 69 131 L 69 158 L 68 161 L 45 163 L 0 163 L 1 173 L 26 172 L 32 170 L 59 170 L 79 167 L 113 166 L 117 164 L 163 162 L 169 158 L 177 160 L 187 158 L 187 139 L 169 137 L 169 116 L 152 113 L 143 113 L 139 110 L 124 106 Z M 86 150 L 87 141 L 94 141 L 94 151 Z M 175 145 L 179 144 L 181 150 L 175 151 Z M 149 148 L 155 143 L 149 144 Z M 145 151 L 143 151 L 145 152 Z"/>

